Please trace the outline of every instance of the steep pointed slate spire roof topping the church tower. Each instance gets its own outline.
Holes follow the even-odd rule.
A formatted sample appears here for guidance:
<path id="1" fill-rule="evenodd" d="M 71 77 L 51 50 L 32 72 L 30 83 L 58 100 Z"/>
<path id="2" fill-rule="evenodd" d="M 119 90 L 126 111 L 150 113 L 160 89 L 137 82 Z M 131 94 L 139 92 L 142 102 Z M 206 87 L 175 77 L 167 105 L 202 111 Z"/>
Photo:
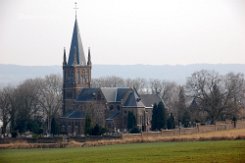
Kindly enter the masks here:
<path id="1" fill-rule="evenodd" d="M 83 45 L 80 37 L 77 19 L 75 19 L 74 28 L 73 28 L 68 65 L 69 66 L 86 65 L 86 60 L 84 56 Z"/>

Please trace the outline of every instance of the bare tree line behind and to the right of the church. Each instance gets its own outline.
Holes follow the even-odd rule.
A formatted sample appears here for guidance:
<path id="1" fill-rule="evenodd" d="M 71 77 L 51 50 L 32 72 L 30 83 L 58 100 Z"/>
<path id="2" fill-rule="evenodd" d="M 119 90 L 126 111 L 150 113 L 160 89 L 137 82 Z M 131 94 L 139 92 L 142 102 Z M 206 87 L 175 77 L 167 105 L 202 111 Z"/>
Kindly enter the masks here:
<path id="1" fill-rule="evenodd" d="M 116 76 L 94 79 L 95 87 L 133 87 L 139 94 L 158 94 L 167 116 L 188 127 L 191 123 L 214 124 L 217 120 L 241 117 L 244 110 L 244 74 L 221 75 L 215 71 L 196 71 L 184 85 L 159 79 L 123 79 Z M 244 111 L 243 111 L 244 112 Z"/>

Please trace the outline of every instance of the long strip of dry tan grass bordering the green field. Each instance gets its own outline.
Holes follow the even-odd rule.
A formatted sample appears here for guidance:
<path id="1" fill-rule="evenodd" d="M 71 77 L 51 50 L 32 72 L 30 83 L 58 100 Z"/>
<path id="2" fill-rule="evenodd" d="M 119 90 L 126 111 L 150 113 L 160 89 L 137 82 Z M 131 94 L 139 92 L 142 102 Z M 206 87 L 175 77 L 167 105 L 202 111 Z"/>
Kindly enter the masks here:
<path id="1" fill-rule="evenodd" d="M 232 129 L 223 131 L 213 131 L 207 133 L 194 133 L 189 135 L 166 136 L 161 134 L 138 134 L 124 135 L 122 139 L 109 139 L 77 142 L 74 140 L 68 143 L 28 143 L 26 141 L 16 141 L 9 144 L 0 144 L 0 149 L 19 148 L 64 148 L 64 147 L 87 147 L 111 144 L 129 144 L 144 142 L 179 142 L 179 141 L 205 141 L 205 140 L 238 140 L 245 139 L 245 129 Z"/>

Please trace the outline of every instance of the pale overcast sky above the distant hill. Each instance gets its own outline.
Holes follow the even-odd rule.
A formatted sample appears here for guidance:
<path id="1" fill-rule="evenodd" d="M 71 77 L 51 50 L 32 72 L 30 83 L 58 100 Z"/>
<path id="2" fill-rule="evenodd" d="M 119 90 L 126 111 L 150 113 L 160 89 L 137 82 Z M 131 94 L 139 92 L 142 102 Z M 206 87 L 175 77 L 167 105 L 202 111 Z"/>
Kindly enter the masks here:
<path id="1" fill-rule="evenodd" d="M 245 64 L 244 0 L 77 2 L 93 64 Z M 0 63 L 61 65 L 73 8 L 71 0 L 0 0 Z"/>

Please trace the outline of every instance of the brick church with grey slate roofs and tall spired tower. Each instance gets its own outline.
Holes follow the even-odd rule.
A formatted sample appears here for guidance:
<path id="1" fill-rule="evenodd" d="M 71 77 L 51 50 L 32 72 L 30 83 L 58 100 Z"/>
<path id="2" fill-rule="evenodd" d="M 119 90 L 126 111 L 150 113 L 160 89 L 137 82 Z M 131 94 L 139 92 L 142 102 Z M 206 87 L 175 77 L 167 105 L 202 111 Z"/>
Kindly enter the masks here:
<path id="1" fill-rule="evenodd" d="M 86 61 L 77 16 L 68 60 L 65 49 L 63 57 L 62 133 L 84 135 L 86 117 L 93 126 L 98 124 L 109 132 L 127 132 L 129 112 L 134 114 L 139 130 L 150 130 L 153 104 L 162 99 L 158 95 L 139 95 L 128 87 L 92 88 L 90 49 Z"/>

